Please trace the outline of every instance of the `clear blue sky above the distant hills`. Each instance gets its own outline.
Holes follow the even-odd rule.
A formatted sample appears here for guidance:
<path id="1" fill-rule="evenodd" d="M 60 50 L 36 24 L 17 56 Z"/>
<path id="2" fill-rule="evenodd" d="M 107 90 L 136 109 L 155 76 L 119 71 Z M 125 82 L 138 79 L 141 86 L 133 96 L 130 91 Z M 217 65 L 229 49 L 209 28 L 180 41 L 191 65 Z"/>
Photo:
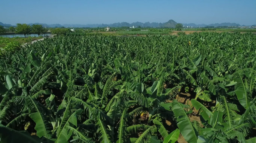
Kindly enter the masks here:
<path id="1" fill-rule="evenodd" d="M 0 22 L 256 24 L 256 0 L 1 0 Z"/>

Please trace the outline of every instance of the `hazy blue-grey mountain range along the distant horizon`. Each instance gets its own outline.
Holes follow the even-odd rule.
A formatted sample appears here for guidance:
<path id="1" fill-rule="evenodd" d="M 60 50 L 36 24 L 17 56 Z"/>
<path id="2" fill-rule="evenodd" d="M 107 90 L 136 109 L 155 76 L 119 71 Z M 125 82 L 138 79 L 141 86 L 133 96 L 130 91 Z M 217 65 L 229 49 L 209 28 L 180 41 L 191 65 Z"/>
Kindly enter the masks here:
<path id="1" fill-rule="evenodd" d="M 131 26 L 135 26 L 135 27 L 164 27 L 164 28 L 175 28 L 175 25 L 177 24 L 177 22 L 175 22 L 174 20 L 169 20 L 168 22 L 164 22 L 164 23 L 157 23 L 157 22 L 133 22 L 133 23 L 128 23 L 128 22 L 118 22 L 118 23 L 113 23 L 113 24 L 46 24 L 46 23 L 29 23 L 29 25 L 33 25 L 33 24 L 40 24 L 43 25 L 44 27 L 91 27 L 91 28 L 95 28 L 95 27 L 131 27 Z M 4 24 L 2 22 L 0 22 L 1 26 L 12 26 L 10 24 Z M 206 26 L 214 26 L 214 27 L 218 27 L 218 26 L 245 26 L 245 25 L 240 25 L 237 23 L 215 23 L 215 24 L 195 24 L 195 23 L 183 23 L 184 26 L 191 26 L 191 27 L 206 27 Z"/>

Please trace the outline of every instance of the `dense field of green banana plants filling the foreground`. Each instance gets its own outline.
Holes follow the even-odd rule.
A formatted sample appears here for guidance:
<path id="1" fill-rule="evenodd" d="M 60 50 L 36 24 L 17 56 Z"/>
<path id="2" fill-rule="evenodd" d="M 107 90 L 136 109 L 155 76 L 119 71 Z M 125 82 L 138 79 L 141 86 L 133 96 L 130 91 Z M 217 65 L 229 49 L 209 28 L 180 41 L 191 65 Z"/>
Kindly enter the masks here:
<path id="1" fill-rule="evenodd" d="M 256 143 L 255 41 L 214 32 L 58 36 L 4 51 L 0 140 Z"/>

